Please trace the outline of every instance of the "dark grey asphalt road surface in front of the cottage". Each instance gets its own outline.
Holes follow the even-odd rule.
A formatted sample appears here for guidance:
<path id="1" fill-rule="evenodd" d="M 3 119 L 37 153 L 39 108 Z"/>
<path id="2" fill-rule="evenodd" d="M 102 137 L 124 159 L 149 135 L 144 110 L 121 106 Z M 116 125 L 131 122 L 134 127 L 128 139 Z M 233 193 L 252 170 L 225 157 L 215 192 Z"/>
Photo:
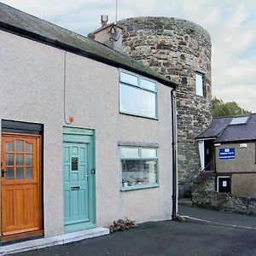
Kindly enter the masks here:
<path id="1" fill-rule="evenodd" d="M 159 221 L 136 229 L 15 255 L 256 255 L 256 217 L 179 206 L 186 222 Z"/>

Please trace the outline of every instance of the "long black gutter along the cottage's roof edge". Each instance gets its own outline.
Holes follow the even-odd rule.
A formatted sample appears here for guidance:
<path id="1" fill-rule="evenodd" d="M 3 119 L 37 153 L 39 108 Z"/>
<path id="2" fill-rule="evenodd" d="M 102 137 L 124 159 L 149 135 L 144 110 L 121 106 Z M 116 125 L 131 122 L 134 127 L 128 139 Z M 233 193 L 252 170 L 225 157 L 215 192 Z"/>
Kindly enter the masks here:
<path id="1" fill-rule="evenodd" d="M 160 82 L 161 84 L 165 84 L 166 86 L 174 88 L 174 89 L 177 87 L 177 84 L 172 81 L 168 81 L 166 79 L 161 79 L 160 77 L 154 76 L 154 74 L 150 74 L 150 73 L 147 73 L 146 71 L 138 70 L 136 67 L 131 67 L 130 65 L 125 65 L 124 63 L 121 63 L 119 61 L 113 61 L 111 59 L 103 57 L 102 55 L 97 55 L 95 53 L 91 53 L 90 51 L 80 49 L 80 48 L 75 47 L 70 44 L 66 44 L 57 39 L 44 37 L 38 33 L 28 31 L 28 30 L 20 28 L 18 26 L 10 25 L 3 21 L 0 21 L 0 29 L 2 29 L 5 32 L 11 32 L 11 33 L 18 35 L 20 37 L 23 37 L 23 38 L 28 38 L 33 41 L 39 42 L 39 43 L 54 46 L 55 48 L 58 48 L 58 49 L 67 50 L 68 52 L 71 52 L 73 54 L 81 55 L 81 56 L 87 57 L 89 59 L 108 64 L 109 66 L 112 66 L 112 67 L 124 68 L 128 71 L 143 75 L 143 76 L 147 77 L 148 79 L 154 79 L 154 80 Z M 88 39 L 90 39 L 90 38 L 88 38 Z M 96 42 L 95 44 L 101 44 L 101 43 Z M 104 47 L 108 47 L 105 44 L 102 44 L 102 45 L 104 45 Z M 136 60 L 134 60 L 134 61 L 136 61 Z"/>

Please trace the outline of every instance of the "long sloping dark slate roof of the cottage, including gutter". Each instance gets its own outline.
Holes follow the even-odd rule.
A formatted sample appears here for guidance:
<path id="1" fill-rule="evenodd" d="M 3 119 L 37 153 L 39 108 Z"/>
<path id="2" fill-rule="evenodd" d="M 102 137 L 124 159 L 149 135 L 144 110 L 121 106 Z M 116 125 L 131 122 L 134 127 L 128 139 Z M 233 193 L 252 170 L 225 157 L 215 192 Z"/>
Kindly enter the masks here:
<path id="1" fill-rule="evenodd" d="M 46 20 L 28 15 L 4 3 L 0 3 L 0 29 L 65 49 L 78 55 L 84 55 L 113 67 L 122 67 L 173 88 L 177 87 L 176 83 L 166 79 L 160 73 L 154 72 L 151 68 L 144 66 L 128 55 L 119 53 L 91 38 L 86 38 Z"/>

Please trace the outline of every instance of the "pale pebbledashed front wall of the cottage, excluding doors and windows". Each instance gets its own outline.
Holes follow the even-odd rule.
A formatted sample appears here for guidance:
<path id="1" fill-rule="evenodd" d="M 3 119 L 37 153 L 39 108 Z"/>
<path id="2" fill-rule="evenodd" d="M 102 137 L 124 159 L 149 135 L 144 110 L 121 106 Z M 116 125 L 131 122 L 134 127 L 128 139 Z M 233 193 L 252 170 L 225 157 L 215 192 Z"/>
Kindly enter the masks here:
<path id="1" fill-rule="evenodd" d="M 63 233 L 65 51 L 0 31 L 0 118 L 44 124 L 44 234 Z M 159 120 L 119 113 L 119 69 L 67 53 L 67 115 L 96 131 L 96 225 L 172 216 L 171 89 L 158 84 Z M 119 141 L 158 143 L 160 187 L 120 192 Z"/>

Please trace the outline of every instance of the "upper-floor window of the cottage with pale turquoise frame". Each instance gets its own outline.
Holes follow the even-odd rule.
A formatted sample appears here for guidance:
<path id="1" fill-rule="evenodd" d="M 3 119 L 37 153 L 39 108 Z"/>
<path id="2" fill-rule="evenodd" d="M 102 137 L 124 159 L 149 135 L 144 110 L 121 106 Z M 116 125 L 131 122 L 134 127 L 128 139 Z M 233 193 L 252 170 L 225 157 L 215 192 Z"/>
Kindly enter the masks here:
<path id="1" fill-rule="evenodd" d="M 157 119 L 156 82 L 120 70 L 119 112 Z"/>

